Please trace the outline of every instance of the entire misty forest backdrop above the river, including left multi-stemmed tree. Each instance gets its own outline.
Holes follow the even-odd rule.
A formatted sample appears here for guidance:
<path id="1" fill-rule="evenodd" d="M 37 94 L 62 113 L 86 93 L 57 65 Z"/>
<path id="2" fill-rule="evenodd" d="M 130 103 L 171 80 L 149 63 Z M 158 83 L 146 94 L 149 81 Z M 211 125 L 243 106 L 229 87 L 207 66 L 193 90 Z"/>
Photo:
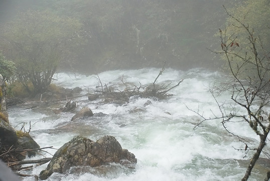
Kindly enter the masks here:
<path id="1" fill-rule="evenodd" d="M 251 52 L 238 21 L 258 37 L 262 52 L 270 47 L 266 0 L 6 0 L 0 14 L 1 69 L 10 69 L 4 77 L 15 73 L 34 93 L 44 92 L 56 71 L 93 74 L 164 62 L 182 70 L 224 70 L 219 30 L 235 38 L 242 53 Z"/>

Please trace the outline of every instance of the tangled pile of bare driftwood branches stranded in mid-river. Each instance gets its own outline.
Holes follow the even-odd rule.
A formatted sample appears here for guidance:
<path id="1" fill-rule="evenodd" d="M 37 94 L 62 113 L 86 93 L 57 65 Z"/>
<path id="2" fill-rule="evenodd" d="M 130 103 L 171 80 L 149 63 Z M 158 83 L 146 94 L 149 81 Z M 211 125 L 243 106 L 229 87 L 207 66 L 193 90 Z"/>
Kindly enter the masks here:
<path id="1" fill-rule="evenodd" d="M 152 84 L 148 85 L 142 85 L 142 83 L 139 81 L 140 86 L 136 86 L 133 84 L 133 88 L 130 88 L 130 84 L 127 84 L 123 81 L 124 76 L 122 75 L 121 82 L 124 85 L 124 89 L 121 91 L 119 89 L 115 90 L 113 88 L 113 85 L 107 85 L 106 83 L 103 84 L 99 76 L 95 77 L 99 81 L 99 85 L 96 86 L 96 89 L 93 90 L 94 94 L 85 94 L 65 99 L 59 99 L 49 102 L 57 102 L 57 101 L 63 101 L 67 100 L 67 103 L 64 108 L 60 108 L 58 110 L 54 110 L 54 113 L 59 114 L 61 112 L 69 112 L 76 108 L 76 103 L 71 102 L 71 99 L 79 98 L 88 96 L 89 101 L 95 101 L 97 99 L 103 99 L 103 104 L 106 103 L 115 103 L 115 104 L 125 104 L 129 102 L 129 99 L 131 97 L 140 97 L 140 98 L 157 98 L 159 100 L 167 99 L 168 97 L 173 96 L 172 94 L 169 94 L 168 92 L 171 91 L 171 89 L 179 86 L 179 84 L 183 81 L 180 80 L 176 85 L 169 88 L 171 83 L 164 83 L 163 85 L 158 85 L 157 80 L 162 75 L 165 68 L 163 67 L 156 79 Z M 69 100 L 69 101 L 68 101 Z"/>

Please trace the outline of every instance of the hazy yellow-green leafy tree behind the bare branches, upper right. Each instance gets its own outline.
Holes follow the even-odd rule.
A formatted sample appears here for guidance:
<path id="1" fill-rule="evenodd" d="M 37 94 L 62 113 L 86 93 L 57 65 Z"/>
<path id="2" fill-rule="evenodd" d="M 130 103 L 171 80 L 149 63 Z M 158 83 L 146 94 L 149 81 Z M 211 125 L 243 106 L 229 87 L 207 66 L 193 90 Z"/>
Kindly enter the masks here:
<path id="1" fill-rule="evenodd" d="M 241 78 L 259 79 L 258 71 L 269 69 L 270 49 L 270 2 L 248 0 L 229 12 L 222 39 L 230 56 L 223 56 L 227 68 L 238 72 Z M 230 63 L 230 64 L 228 64 Z M 269 79 L 268 71 L 263 75 Z"/>

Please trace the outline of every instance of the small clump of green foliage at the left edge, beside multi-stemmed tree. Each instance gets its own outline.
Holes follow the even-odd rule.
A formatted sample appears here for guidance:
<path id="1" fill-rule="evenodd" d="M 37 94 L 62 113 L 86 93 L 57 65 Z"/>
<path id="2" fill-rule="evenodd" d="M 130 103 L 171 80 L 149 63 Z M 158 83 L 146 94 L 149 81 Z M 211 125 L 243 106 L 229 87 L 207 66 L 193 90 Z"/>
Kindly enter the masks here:
<path id="1" fill-rule="evenodd" d="M 15 63 L 6 60 L 6 57 L 0 53 L 0 74 L 3 76 L 4 80 L 9 81 L 10 77 L 14 75 L 15 71 Z"/>

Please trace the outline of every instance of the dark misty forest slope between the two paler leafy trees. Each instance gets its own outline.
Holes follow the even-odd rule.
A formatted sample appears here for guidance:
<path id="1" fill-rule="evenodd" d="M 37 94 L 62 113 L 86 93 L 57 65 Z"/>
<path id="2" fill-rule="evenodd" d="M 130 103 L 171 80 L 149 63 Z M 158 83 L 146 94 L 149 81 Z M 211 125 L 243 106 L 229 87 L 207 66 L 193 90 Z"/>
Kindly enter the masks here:
<path id="1" fill-rule="evenodd" d="M 211 55 L 205 47 L 214 44 L 212 34 L 224 23 L 221 5 L 232 4 L 225 0 L 50 2 L 57 14 L 82 20 L 91 38 L 82 59 L 73 65 L 87 71 L 160 67 L 164 60 L 177 68 L 209 66 Z M 217 65 L 214 62 L 211 65 Z"/>

